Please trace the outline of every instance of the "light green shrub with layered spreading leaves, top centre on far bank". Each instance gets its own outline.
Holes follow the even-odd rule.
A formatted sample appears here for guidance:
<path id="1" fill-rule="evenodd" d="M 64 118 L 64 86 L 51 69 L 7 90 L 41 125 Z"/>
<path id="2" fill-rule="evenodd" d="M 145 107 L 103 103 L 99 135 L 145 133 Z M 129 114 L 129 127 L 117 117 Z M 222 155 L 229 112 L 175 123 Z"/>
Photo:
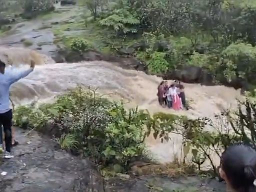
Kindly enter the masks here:
<path id="1" fill-rule="evenodd" d="M 99 21 L 102 26 L 107 26 L 117 33 L 136 33 L 139 20 L 125 9 L 114 10 L 111 15 Z"/>

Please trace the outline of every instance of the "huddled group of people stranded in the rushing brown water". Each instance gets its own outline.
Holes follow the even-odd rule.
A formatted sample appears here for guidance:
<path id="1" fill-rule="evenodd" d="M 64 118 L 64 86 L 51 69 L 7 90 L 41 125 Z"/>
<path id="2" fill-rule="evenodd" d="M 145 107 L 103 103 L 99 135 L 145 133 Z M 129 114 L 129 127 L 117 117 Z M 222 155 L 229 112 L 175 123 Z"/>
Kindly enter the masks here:
<path id="1" fill-rule="evenodd" d="M 186 109 L 186 98 L 184 86 L 180 81 L 174 80 L 173 83 L 168 85 L 168 81 L 161 81 L 157 87 L 158 102 L 163 107 L 173 108 L 174 110 Z"/>

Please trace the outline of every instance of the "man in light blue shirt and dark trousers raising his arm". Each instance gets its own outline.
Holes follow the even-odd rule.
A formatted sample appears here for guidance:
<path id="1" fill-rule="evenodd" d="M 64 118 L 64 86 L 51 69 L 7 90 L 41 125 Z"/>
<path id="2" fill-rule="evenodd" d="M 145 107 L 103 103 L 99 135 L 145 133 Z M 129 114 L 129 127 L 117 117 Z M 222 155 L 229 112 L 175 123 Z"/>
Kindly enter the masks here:
<path id="1" fill-rule="evenodd" d="M 34 61 L 30 62 L 30 68 L 21 72 L 4 73 L 5 63 L 0 60 L 0 127 L 3 126 L 5 153 L 4 158 L 12 158 L 11 150 L 11 125 L 12 125 L 12 110 L 9 107 L 9 88 L 10 85 L 18 81 L 20 78 L 27 76 L 34 69 Z M 0 136 L 2 131 L 0 131 Z M 2 146 L 0 146 L 2 149 Z"/>

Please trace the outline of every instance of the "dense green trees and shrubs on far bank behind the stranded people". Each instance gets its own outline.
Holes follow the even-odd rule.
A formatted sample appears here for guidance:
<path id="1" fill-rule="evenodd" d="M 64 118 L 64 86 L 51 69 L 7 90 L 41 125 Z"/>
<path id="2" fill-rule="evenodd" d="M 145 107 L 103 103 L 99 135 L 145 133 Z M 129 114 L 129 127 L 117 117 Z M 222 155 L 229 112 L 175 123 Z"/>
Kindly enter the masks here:
<path id="1" fill-rule="evenodd" d="M 105 41 L 114 50 L 135 47 L 132 54 L 152 73 L 195 65 L 212 73 L 216 81 L 239 77 L 255 83 L 253 1 L 114 0 L 100 6 L 104 8 L 97 8 L 94 22 L 109 28 Z M 138 47 L 141 41 L 144 45 Z"/>

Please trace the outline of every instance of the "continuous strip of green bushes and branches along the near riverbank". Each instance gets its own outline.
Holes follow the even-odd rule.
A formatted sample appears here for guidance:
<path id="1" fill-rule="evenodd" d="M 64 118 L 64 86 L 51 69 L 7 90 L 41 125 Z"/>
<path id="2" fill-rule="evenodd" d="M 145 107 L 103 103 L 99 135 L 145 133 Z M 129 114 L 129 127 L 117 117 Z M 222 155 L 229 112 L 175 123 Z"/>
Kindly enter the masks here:
<path id="1" fill-rule="evenodd" d="M 126 110 L 122 103 L 78 87 L 51 104 L 19 106 L 13 119 L 15 125 L 54 135 L 61 148 L 89 156 L 117 172 L 127 171 L 131 162 L 147 154 L 143 141 L 149 134 L 161 141 L 172 139 L 169 133 L 178 134 L 182 136 L 183 161 L 191 163 L 191 158 L 186 158 L 191 154 L 192 163 L 200 169 L 209 160 L 216 174 L 213 155 L 220 157 L 231 143 L 241 141 L 256 148 L 255 93 L 246 98 L 237 111 L 223 111 L 213 122 L 162 112 L 150 115 L 136 108 Z"/>

